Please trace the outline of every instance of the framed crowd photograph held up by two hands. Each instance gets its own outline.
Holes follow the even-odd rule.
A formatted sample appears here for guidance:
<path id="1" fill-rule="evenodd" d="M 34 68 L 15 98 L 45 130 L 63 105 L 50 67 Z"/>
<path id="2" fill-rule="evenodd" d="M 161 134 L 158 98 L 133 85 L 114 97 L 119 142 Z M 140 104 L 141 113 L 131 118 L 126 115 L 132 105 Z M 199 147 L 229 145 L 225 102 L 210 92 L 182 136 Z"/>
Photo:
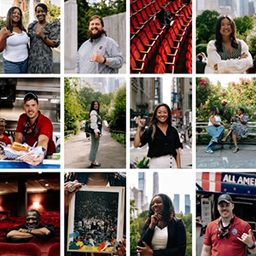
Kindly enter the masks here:
<path id="1" fill-rule="evenodd" d="M 123 237 L 125 188 L 83 186 L 69 206 L 67 251 L 112 253 Z"/>

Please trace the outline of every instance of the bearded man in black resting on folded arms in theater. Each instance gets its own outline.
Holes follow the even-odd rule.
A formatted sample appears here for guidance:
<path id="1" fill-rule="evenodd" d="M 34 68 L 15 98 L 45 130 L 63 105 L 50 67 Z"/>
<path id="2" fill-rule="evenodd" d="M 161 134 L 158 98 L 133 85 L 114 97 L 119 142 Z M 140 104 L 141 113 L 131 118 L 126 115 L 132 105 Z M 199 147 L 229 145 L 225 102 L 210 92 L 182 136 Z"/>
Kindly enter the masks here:
<path id="1" fill-rule="evenodd" d="M 53 224 L 42 225 L 40 213 L 37 210 L 30 210 L 26 215 L 26 224 L 6 231 L 8 242 L 29 242 L 33 237 L 49 239 L 55 236 Z"/>

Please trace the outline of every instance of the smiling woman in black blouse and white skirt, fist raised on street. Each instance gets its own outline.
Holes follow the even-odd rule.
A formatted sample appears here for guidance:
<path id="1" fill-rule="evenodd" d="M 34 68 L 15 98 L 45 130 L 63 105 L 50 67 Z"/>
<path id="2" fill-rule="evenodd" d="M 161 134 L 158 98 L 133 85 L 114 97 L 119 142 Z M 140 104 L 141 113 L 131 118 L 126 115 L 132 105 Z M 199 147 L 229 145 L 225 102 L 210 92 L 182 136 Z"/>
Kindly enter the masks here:
<path id="1" fill-rule="evenodd" d="M 138 117 L 134 147 L 143 147 L 148 143 L 149 168 L 181 168 L 181 143 L 176 128 L 172 126 L 169 106 L 165 103 L 156 106 L 148 129 L 141 136 L 145 122 L 145 119 Z"/>

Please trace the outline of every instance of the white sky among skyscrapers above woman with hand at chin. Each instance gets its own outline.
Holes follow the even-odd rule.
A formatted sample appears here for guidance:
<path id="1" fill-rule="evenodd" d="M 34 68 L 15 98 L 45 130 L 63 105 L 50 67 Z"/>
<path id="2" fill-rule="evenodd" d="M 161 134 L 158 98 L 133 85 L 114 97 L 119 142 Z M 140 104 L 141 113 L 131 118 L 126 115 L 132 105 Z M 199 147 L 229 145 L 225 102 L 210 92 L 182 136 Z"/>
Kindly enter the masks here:
<path id="1" fill-rule="evenodd" d="M 148 204 L 153 195 L 153 172 L 146 173 L 146 195 L 148 196 Z M 179 208 L 185 212 L 184 195 L 190 195 L 190 204 L 192 207 L 191 195 L 195 194 L 195 184 L 191 183 L 194 176 L 191 171 L 178 169 L 174 172 L 159 172 L 159 193 L 169 195 L 173 201 L 174 194 L 179 194 Z M 138 174 L 132 174 L 131 188 L 138 186 Z"/>

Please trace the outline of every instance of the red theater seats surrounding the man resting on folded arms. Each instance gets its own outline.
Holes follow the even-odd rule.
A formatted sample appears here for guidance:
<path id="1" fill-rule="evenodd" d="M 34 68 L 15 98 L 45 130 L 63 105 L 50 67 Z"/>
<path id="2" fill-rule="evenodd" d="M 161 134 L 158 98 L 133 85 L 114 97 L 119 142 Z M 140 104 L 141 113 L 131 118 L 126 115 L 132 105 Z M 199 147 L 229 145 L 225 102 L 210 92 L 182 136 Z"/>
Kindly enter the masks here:
<path id="1" fill-rule="evenodd" d="M 30 253 L 30 250 L 26 252 L 26 246 L 30 243 L 20 243 L 19 247 L 16 247 L 16 244 L 6 243 L 5 235 L 6 231 L 9 229 L 13 229 L 17 226 L 26 223 L 26 217 L 9 217 L 9 218 L 1 218 L 0 221 L 0 255 L 8 255 L 8 256 L 59 256 L 60 253 L 60 212 L 41 212 L 41 224 L 53 224 L 55 226 L 55 237 L 45 241 L 42 239 L 38 239 L 36 237 L 30 240 L 30 243 L 33 245 L 32 252 L 34 250 L 38 251 L 39 254 L 26 254 Z M 12 253 L 14 251 L 9 252 L 9 245 L 13 247 L 11 250 L 15 250 L 16 247 L 17 252 Z M 25 251 L 22 251 L 22 248 L 25 248 Z M 22 252 L 19 254 L 19 251 Z M 9 253 L 8 253 L 9 252 Z M 5 253 L 5 254 L 4 254 Z"/>

